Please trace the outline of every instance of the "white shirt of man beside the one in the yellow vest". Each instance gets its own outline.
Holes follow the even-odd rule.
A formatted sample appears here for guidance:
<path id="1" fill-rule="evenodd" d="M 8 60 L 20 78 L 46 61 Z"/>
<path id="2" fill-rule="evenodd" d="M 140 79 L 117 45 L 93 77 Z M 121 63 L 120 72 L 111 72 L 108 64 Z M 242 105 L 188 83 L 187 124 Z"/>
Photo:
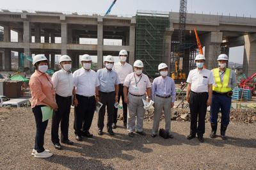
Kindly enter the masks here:
<path id="1" fill-rule="evenodd" d="M 189 72 L 187 82 L 191 83 L 191 91 L 202 93 L 208 92 L 208 84 L 213 84 L 214 78 L 211 70 L 195 68 Z"/>

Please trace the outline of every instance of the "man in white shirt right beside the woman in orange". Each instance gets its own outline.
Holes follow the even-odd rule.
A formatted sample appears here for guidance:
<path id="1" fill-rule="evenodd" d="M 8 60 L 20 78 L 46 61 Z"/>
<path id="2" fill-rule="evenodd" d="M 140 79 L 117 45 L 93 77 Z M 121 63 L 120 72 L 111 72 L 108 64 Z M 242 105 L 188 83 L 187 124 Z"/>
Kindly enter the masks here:
<path id="1" fill-rule="evenodd" d="M 68 139 L 68 125 L 69 114 L 72 100 L 72 94 L 74 93 L 74 81 L 71 73 L 72 60 L 69 56 L 63 55 L 60 57 L 61 70 L 53 73 L 52 84 L 55 89 L 56 102 L 60 106 L 56 112 L 52 115 L 52 131 L 51 139 L 54 147 L 57 150 L 61 150 L 61 144 L 59 139 L 59 125 L 61 122 L 61 143 L 73 144 Z"/>

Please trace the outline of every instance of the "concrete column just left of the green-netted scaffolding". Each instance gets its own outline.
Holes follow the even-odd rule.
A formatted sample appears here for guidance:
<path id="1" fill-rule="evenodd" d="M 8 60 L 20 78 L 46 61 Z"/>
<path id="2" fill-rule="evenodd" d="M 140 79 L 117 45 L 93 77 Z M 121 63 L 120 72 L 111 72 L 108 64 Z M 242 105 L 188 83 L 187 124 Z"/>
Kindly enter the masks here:
<path id="1" fill-rule="evenodd" d="M 136 20 L 132 18 L 130 33 L 129 33 L 129 63 L 133 65 L 135 61 L 135 31 L 136 31 Z"/>

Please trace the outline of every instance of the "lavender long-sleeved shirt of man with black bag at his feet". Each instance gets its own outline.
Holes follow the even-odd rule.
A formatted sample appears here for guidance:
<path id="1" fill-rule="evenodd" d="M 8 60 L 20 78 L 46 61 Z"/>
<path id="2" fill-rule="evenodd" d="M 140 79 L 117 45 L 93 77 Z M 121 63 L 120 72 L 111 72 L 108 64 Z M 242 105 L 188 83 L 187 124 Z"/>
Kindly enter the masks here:
<path id="1" fill-rule="evenodd" d="M 152 84 L 152 100 L 154 101 L 155 95 L 159 95 L 161 97 L 167 97 L 169 95 L 172 96 L 172 102 L 175 101 L 176 90 L 175 83 L 171 77 L 166 76 L 163 78 L 162 76 L 156 77 Z"/>

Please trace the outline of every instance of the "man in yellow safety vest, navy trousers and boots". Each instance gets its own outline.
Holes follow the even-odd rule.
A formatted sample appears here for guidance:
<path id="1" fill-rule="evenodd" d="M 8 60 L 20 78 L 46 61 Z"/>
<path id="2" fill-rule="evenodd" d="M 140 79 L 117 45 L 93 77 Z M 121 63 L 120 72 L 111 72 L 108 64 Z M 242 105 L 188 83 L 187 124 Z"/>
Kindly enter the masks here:
<path id="1" fill-rule="evenodd" d="M 218 113 L 221 111 L 220 134 L 222 139 L 227 139 L 226 130 L 230 120 L 232 89 L 236 87 L 236 74 L 233 70 L 227 68 L 228 56 L 226 54 L 220 54 L 217 61 L 218 68 L 212 69 L 214 84 L 212 86 L 210 116 L 212 132 L 210 137 L 216 137 Z"/>

